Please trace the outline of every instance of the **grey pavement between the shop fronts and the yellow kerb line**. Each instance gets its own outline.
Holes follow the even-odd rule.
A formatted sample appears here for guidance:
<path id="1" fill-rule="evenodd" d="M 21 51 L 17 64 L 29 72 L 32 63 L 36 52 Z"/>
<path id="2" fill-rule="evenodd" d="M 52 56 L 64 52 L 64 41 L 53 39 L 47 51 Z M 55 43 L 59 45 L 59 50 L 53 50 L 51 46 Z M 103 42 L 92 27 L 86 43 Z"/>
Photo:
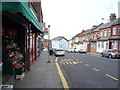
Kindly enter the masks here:
<path id="1" fill-rule="evenodd" d="M 51 63 L 47 63 L 50 58 Z M 14 80 L 14 88 L 63 88 L 56 65 L 55 56 L 48 56 L 43 51 L 35 61 L 29 72 L 25 73 L 23 80 Z"/>

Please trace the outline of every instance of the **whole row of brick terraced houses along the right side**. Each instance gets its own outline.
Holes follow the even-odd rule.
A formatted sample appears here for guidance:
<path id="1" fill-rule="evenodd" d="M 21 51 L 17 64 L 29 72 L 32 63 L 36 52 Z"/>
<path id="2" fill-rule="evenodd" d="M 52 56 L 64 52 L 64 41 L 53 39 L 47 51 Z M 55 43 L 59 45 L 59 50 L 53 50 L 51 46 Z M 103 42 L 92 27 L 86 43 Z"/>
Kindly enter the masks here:
<path id="1" fill-rule="evenodd" d="M 87 52 L 101 53 L 104 49 L 116 49 L 120 52 L 120 19 L 116 19 L 116 15 L 111 13 L 108 23 L 94 25 L 75 35 L 72 41 L 73 46 L 82 47 Z"/>

